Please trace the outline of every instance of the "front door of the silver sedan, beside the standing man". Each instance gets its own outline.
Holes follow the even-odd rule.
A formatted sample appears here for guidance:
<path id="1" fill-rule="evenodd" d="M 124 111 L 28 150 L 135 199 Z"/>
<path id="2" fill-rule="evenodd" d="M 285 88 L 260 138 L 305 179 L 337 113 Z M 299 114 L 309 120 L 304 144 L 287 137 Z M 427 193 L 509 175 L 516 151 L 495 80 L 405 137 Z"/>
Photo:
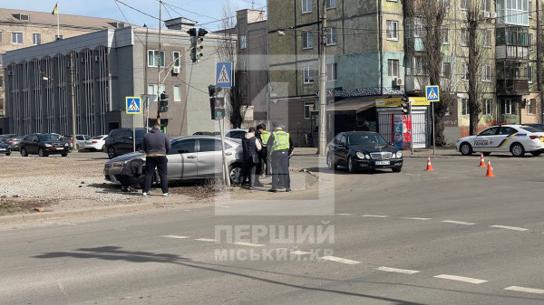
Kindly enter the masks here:
<path id="1" fill-rule="evenodd" d="M 173 142 L 166 157 L 169 180 L 190 180 L 197 176 L 197 148 L 194 138 Z"/>

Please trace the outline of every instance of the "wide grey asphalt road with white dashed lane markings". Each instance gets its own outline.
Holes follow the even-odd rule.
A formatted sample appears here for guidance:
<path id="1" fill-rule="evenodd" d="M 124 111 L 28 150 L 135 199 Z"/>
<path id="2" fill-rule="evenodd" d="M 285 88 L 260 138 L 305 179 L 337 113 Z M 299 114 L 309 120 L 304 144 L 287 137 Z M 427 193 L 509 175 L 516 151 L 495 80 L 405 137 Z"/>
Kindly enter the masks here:
<path id="1" fill-rule="evenodd" d="M 308 167 L 317 160 L 294 158 Z M 543 158 L 490 158 L 493 178 L 476 156 L 432 159 L 433 172 L 422 157 L 406 158 L 400 174 L 321 168 L 320 195 L 277 193 L 291 208 L 284 215 L 236 215 L 248 206 L 218 199 L 5 228 L 0 302 L 542 304 Z M 334 214 L 305 215 L 307 198 L 334 205 Z M 278 236 L 286 228 L 293 240 Z"/>

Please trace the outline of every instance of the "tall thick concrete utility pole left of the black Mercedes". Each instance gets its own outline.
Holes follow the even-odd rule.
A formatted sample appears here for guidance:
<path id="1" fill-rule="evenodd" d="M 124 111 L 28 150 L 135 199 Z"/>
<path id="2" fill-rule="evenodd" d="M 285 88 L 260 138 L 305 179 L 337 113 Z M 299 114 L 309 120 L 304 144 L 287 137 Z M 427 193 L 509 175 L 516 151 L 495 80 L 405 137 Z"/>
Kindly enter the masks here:
<path id="1" fill-rule="evenodd" d="M 321 18 L 321 71 L 319 73 L 319 147 L 317 153 L 325 157 L 326 152 L 326 0 L 323 0 Z"/>

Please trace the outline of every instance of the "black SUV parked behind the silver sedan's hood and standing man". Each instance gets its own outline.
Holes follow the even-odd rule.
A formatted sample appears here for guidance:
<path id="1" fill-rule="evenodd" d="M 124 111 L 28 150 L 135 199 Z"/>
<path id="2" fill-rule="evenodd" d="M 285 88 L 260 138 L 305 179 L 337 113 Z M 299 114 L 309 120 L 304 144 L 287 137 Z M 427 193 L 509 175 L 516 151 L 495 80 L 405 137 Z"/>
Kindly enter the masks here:
<path id="1" fill-rule="evenodd" d="M 141 139 L 146 134 L 146 129 L 136 129 L 136 151 L 141 149 Z M 106 137 L 104 143 L 105 152 L 109 158 L 133 152 L 132 129 L 113 129 Z"/>

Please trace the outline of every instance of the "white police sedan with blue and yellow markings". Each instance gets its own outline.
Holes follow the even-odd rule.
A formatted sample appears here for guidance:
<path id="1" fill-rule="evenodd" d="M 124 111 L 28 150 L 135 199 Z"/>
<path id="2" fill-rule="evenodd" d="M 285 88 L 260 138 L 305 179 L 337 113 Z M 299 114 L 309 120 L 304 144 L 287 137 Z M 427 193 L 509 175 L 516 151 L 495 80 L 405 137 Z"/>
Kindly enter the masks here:
<path id="1" fill-rule="evenodd" d="M 509 152 L 514 157 L 523 157 L 526 152 L 539 156 L 544 152 L 544 132 L 525 125 L 499 125 L 481 131 L 475 136 L 460 138 L 455 150 L 463 156 L 482 152 Z"/>

